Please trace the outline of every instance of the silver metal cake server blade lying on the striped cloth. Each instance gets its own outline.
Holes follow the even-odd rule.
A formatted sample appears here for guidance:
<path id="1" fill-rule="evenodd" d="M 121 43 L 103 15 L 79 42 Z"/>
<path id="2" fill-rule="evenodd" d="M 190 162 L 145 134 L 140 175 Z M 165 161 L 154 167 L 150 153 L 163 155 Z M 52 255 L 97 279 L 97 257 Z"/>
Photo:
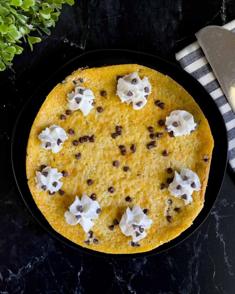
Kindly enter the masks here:
<path id="1" fill-rule="evenodd" d="M 235 34 L 220 26 L 206 26 L 195 35 L 235 113 Z"/>

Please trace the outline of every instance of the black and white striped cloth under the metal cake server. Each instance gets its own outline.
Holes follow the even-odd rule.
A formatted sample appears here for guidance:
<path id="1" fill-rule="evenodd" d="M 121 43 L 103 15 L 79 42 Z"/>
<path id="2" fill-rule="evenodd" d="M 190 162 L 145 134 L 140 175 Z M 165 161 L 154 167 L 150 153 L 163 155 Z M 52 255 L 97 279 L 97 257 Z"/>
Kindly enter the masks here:
<path id="1" fill-rule="evenodd" d="M 235 34 L 235 20 L 224 25 Z M 232 111 L 211 66 L 209 65 L 198 41 L 175 54 L 180 66 L 196 78 L 212 96 L 224 118 L 229 140 L 229 163 L 235 171 L 235 114 Z"/>

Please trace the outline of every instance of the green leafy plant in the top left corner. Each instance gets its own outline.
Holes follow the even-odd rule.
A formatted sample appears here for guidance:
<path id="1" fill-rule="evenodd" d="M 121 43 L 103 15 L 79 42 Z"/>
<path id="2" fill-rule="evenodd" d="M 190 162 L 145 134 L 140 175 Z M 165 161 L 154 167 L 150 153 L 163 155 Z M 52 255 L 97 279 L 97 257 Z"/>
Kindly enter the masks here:
<path id="1" fill-rule="evenodd" d="M 31 50 L 41 38 L 29 36 L 31 31 L 50 35 L 63 3 L 74 4 L 74 0 L 0 0 L 0 71 L 12 65 L 15 54 L 21 54 L 21 38 L 28 42 Z"/>

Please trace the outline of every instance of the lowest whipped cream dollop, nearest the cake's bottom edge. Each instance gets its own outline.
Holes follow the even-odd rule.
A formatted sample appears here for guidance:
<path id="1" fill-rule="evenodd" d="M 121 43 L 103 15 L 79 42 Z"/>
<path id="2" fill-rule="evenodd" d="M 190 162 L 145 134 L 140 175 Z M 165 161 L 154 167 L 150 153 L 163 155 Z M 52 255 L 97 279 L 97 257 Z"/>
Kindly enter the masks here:
<path id="1" fill-rule="evenodd" d="M 147 218 L 140 207 L 134 205 L 132 210 L 127 207 L 127 210 L 123 213 L 119 226 L 121 231 L 126 236 L 132 236 L 133 242 L 139 241 L 146 237 L 144 229 L 149 229 L 152 220 Z"/>

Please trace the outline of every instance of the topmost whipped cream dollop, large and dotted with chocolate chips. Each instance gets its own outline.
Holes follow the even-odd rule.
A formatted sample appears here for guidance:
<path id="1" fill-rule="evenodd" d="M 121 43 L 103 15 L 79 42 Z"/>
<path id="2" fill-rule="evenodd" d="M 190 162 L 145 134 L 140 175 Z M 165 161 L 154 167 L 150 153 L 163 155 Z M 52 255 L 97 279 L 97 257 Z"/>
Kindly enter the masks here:
<path id="1" fill-rule="evenodd" d="M 118 79 L 116 95 L 119 96 L 122 103 L 126 102 L 129 105 L 132 102 L 135 110 L 145 106 L 147 103 L 145 96 L 150 93 L 151 85 L 146 76 L 141 80 L 138 74 L 133 72 Z"/>

